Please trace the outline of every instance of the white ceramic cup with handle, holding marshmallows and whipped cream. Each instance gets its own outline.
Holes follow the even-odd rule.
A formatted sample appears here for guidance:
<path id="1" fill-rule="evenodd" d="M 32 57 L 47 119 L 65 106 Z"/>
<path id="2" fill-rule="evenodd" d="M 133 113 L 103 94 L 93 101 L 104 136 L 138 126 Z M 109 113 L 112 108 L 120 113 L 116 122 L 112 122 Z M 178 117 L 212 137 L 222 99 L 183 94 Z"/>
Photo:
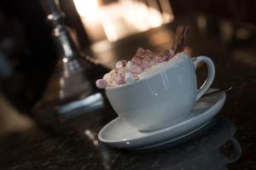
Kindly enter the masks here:
<path id="1" fill-rule="evenodd" d="M 176 61 L 168 61 L 170 66 L 150 77 L 106 88 L 113 110 L 140 131 L 154 131 L 183 121 L 213 82 L 212 59 L 206 56 L 191 59 L 184 53 L 175 57 Z M 197 89 L 195 68 L 200 62 L 207 64 L 208 76 Z"/>

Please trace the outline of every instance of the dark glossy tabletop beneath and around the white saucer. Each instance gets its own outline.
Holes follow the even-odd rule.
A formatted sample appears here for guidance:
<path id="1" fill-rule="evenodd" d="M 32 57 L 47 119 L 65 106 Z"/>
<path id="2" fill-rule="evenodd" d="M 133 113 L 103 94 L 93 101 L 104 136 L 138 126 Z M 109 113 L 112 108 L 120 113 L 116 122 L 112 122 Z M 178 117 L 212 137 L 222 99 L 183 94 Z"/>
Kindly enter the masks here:
<path id="1" fill-rule="evenodd" d="M 218 118 L 208 127 L 191 139 L 154 150 L 119 150 L 97 139 L 101 128 L 116 117 L 108 102 L 97 111 L 67 122 L 68 128 L 56 130 L 38 126 L 2 97 L 6 105 L 0 106 L 0 124 L 3 115 L 9 118 L 5 117 L 0 126 L 0 169 L 204 169 L 203 165 L 215 160 L 205 159 L 210 156 L 208 152 L 219 147 L 224 152 L 232 150 L 223 145 L 233 135 L 242 153 L 238 161 L 228 165 L 229 169 L 256 169 L 256 29 L 236 21 L 203 17 L 205 26 L 199 24 L 199 17 L 180 17 L 170 25 L 91 48 L 99 62 L 113 67 L 117 60 L 135 54 L 138 47 L 153 51 L 170 48 L 177 26 L 193 27 L 186 44 L 193 49 L 192 56 L 203 54 L 214 61 L 216 77 L 212 87 L 233 87 Z M 199 84 L 206 77 L 205 69 L 201 66 L 197 71 Z"/>

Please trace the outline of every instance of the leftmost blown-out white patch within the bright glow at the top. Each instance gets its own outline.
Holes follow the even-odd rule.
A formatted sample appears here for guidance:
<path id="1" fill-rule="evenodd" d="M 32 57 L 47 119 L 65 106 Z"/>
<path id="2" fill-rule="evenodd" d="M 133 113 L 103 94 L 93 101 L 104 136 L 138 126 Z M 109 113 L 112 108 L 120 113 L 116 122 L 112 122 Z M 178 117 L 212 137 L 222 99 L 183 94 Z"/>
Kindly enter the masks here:
<path id="1" fill-rule="evenodd" d="M 75 7 L 80 16 L 84 16 L 86 20 L 93 20 L 98 10 L 98 0 L 73 0 Z"/>

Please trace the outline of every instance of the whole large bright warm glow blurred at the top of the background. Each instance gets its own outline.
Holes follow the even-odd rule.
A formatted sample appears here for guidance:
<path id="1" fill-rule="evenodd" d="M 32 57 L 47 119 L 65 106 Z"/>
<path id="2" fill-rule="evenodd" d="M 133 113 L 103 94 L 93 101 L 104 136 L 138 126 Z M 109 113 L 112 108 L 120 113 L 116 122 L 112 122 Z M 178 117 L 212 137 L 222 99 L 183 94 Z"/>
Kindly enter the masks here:
<path id="1" fill-rule="evenodd" d="M 73 0 L 73 2 L 89 37 L 95 42 L 106 37 L 109 42 L 115 42 L 174 19 L 168 0 L 150 0 L 147 1 L 148 3 L 119 0 L 106 5 L 100 0 Z"/>

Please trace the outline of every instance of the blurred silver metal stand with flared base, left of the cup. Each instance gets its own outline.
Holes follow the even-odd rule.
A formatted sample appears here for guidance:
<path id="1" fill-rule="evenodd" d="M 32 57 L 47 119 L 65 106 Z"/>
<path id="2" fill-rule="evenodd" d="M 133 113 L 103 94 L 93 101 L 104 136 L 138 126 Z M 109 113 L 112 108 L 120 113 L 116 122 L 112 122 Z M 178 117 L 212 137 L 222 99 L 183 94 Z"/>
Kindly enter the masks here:
<path id="1" fill-rule="evenodd" d="M 107 70 L 79 53 L 69 28 L 64 25 L 59 2 L 49 0 L 48 3 L 50 14 L 47 20 L 53 27 L 52 37 L 58 59 L 33 112 L 39 122 L 56 126 L 102 107 L 102 93 L 96 91 L 95 80 Z"/>

